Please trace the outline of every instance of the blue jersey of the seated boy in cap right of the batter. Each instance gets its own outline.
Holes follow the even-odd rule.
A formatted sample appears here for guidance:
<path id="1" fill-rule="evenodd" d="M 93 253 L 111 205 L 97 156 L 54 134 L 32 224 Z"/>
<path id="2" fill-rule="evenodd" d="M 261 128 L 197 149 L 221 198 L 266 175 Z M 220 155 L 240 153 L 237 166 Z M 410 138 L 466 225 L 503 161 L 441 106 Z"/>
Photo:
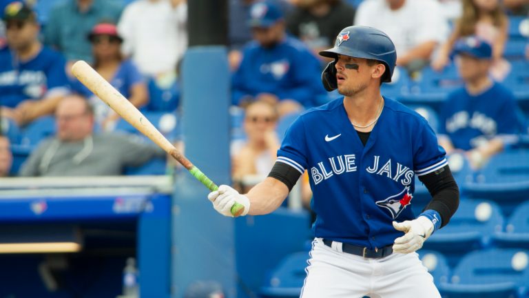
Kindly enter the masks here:
<path id="1" fill-rule="evenodd" d="M 470 95 L 466 88 L 451 92 L 439 120 L 439 135 L 448 136 L 453 146 L 462 150 L 478 147 L 492 137 L 518 134 L 523 129 L 515 96 L 500 83 L 479 95 Z"/>

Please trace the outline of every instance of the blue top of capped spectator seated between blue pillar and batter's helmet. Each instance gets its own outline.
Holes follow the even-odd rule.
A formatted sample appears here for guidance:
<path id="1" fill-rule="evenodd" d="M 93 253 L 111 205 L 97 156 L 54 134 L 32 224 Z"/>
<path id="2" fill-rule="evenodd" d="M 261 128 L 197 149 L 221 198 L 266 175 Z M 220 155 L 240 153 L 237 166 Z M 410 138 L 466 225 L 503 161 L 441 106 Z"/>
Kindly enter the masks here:
<path id="1" fill-rule="evenodd" d="M 293 99 L 303 106 L 317 106 L 326 97 L 322 86 L 321 64 L 298 39 L 287 37 L 273 48 L 256 41 L 242 52 L 242 61 L 232 77 L 232 102 L 245 97 L 271 93 L 279 99 Z"/>

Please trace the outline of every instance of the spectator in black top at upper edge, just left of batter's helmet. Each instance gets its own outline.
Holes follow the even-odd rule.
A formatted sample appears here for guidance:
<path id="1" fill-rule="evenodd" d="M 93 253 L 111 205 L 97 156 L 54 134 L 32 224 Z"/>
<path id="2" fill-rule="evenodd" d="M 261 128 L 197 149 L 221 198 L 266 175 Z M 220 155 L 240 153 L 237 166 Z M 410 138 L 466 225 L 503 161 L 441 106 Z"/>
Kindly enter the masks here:
<path id="1" fill-rule="evenodd" d="M 354 23 L 355 9 L 342 0 L 301 0 L 287 17 L 287 30 L 314 53 L 334 46 L 336 32 Z"/>

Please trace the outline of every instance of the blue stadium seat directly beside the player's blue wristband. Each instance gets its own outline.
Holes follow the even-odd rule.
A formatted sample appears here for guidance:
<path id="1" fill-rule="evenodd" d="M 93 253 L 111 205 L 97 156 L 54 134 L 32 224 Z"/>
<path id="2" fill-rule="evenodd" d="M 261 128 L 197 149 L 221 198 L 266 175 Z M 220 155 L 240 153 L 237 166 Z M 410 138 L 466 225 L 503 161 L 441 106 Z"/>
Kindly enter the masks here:
<path id="1" fill-rule="evenodd" d="M 504 217 L 492 201 L 461 199 L 450 223 L 435 232 L 424 249 L 442 252 L 450 266 L 471 250 L 488 246 L 490 237 L 503 229 Z"/>

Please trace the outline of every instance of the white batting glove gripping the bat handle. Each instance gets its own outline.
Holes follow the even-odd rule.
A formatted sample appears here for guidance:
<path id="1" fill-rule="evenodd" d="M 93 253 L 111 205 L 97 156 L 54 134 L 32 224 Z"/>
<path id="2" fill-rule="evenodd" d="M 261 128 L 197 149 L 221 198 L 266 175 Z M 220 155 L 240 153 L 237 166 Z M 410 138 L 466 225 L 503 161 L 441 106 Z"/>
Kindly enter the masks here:
<path id="1" fill-rule="evenodd" d="M 247 215 L 250 210 L 250 200 L 248 197 L 240 195 L 237 190 L 227 185 L 221 185 L 218 187 L 218 190 L 209 192 L 207 199 L 213 203 L 213 208 L 217 212 L 227 217 L 234 217 L 231 214 L 231 206 L 234 206 L 234 203 L 240 203 L 242 206 L 245 206 L 245 210 L 242 211 L 240 216 Z"/>

